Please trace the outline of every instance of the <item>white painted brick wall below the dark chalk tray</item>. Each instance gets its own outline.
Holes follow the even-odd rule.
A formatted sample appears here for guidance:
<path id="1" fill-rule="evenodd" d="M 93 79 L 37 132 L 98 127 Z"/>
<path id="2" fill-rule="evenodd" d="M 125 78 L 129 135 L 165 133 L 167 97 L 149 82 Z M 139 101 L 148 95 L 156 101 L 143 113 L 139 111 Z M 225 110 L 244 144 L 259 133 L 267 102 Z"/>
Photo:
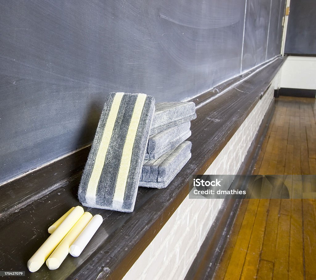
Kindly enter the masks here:
<path id="1" fill-rule="evenodd" d="M 273 88 L 274 83 L 205 174 L 237 173 L 273 100 Z M 189 199 L 187 196 L 123 279 L 183 279 L 222 202 L 222 199 Z"/>

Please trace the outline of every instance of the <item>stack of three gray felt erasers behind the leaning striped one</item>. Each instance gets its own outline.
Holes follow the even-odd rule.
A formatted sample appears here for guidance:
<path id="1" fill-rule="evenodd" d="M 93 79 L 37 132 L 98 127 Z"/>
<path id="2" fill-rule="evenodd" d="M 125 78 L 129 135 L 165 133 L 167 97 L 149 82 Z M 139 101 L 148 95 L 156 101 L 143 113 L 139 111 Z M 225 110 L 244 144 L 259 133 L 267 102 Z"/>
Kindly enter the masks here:
<path id="1" fill-rule="evenodd" d="M 155 105 L 139 186 L 165 188 L 191 158 L 193 102 L 163 102 Z"/>

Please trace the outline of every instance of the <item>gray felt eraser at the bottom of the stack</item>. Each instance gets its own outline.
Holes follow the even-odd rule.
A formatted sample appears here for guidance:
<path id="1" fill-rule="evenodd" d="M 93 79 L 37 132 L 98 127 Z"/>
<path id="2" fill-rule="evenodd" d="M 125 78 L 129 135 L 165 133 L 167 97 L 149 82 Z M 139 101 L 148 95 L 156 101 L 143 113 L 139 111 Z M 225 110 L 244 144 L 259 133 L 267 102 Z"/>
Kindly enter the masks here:
<path id="1" fill-rule="evenodd" d="M 191 158 L 191 142 L 184 141 L 155 160 L 144 160 L 139 186 L 165 188 Z"/>

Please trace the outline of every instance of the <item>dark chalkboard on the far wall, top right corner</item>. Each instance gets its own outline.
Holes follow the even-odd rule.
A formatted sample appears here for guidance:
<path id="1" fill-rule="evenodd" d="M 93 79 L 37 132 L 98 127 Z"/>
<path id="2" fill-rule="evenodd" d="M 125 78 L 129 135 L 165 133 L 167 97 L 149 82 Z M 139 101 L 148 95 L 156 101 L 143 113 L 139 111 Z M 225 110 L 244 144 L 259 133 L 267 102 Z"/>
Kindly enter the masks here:
<path id="1" fill-rule="evenodd" d="M 285 53 L 316 55 L 316 2 L 291 0 Z"/>

